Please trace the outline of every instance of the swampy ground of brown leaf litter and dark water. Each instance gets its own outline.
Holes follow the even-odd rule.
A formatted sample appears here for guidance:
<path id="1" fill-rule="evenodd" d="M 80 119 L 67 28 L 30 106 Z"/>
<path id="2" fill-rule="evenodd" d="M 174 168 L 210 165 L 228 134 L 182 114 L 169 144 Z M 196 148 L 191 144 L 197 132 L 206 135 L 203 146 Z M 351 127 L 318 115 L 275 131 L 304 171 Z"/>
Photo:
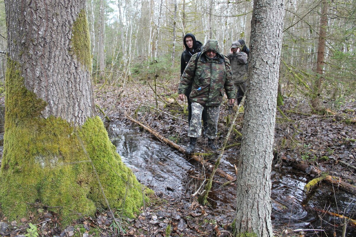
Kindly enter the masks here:
<path id="1" fill-rule="evenodd" d="M 156 87 L 152 81 L 150 84 L 138 81 L 121 86 L 98 84 L 94 88 L 95 102 L 101 109 L 97 112 L 105 121 L 117 152 L 137 179 L 155 191 L 150 196 L 150 203 L 142 206 L 135 219 L 120 216 L 120 210 L 115 210 L 115 217 L 106 210 L 98 210 L 96 216 L 78 215 L 72 225 L 61 226 L 56 213 L 47 212 L 38 204 L 37 212 L 29 213 L 20 222 L 8 222 L 6 216 L 0 215 L 0 235 L 25 236 L 31 230 L 29 223 L 33 223 L 37 224 L 40 236 L 115 236 L 119 232 L 123 236 L 231 236 L 236 185 L 222 186 L 227 180 L 215 175 L 208 197 L 210 205 L 200 205 L 197 196 L 204 180 L 209 177 L 209 169 L 163 144 L 129 119 L 133 118 L 186 147 L 189 141 L 187 102 L 176 99 L 176 88 L 176 81 L 166 81 Z M 272 166 L 275 235 L 341 236 L 345 225 L 346 236 L 356 236 L 356 221 L 353 220 L 355 194 L 352 193 L 356 182 L 355 98 L 342 102 L 325 101 L 328 114 L 317 115 L 311 113 L 307 100 L 289 93 L 288 88 L 284 95 L 288 96 L 277 111 Z M 236 106 L 228 109 L 226 100 L 220 108 L 219 147 L 236 109 Z M 231 176 L 236 176 L 235 166 L 239 162 L 243 123 L 243 110 L 240 111 L 236 130 L 227 144 L 231 147 L 226 149 L 220 163 L 220 168 Z M 204 137 L 199 138 L 196 150 L 200 154 L 212 153 Z M 204 156 L 211 163 L 216 158 L 214 153 Z M 321 181 L 306 192 L 307 183 L 320 174 L 345 182 L 349 191 L 336 185 L 337 182 Z M 114 218 L 119 226 L 113 222 Z M 298 229 L 308 231 L 294 231 Z"/>

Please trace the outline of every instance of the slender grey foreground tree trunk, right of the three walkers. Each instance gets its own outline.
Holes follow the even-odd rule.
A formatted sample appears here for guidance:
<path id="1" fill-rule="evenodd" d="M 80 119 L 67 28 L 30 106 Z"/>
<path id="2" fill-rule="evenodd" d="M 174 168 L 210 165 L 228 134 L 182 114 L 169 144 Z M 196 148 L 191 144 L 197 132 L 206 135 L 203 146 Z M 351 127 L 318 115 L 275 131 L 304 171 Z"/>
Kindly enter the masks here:
<path id="1" fill-rule="evenodd" d="M 271 165 L 283 18 L 284 1 L 254 1 L 246 110 L 237 173 L 236 236 L 246 233 L 273 236 Z"/>

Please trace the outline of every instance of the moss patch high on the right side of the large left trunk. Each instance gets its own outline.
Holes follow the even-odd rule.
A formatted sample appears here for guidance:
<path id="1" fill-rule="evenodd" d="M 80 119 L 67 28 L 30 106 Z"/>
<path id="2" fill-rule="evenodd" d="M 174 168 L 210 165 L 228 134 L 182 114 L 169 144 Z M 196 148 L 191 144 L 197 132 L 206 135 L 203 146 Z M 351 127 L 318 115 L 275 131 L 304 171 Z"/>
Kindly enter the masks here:
<path id="1" fill-rule="evenodd" d="M 78 60 L 91 72 L 90 35 L 87 16 L 83 9 L 78 14 L 72 27 L 72 39 L 70 40 L 72 52 Z"/>

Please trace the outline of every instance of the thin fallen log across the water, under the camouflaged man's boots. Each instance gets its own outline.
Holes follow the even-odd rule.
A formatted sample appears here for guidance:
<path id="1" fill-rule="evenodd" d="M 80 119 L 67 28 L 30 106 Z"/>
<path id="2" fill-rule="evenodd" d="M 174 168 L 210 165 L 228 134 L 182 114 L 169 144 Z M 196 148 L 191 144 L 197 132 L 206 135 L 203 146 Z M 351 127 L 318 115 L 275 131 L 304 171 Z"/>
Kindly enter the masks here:
<path id="1" fill-rule="evenodd" d="M 185 149 L 182 146 L 179 146 L 178 144 L 174 143 L 173 141 L 168 140 L 167 138 L 164 138 L 164 136 L 162 136 L 161 134 L 159 134 L 157 131 L 155 131 L 154 129 L 150 128 L 149 126 L 137 121 L 136 119 L 131 118 L 130 116 L 126 115 L 126 117 L 131 120 L 132 122 L 140 125 L 143 129 L 149 131 L 152 135 L 154 135 L 159 141 L 161 141 L 162 143 L 169 145 L 171 147 L 173 147 L 174 149 L 176 149 L 177 151 L 179 151 L 180 153 L 185 155 L 185 158 L 190 161 L 190 160 L 194 160 L 199 162 L 201 165 L 203 165 L 204 167 L 208 168 L 209 170 L 212 170 L 214 168 L 214 165 L 211 164 L 208 161 L 205 161 L 203 158 L 201 158 L 201 156 L 197 156 L 194 154 L 188 154 L 185 153 Z M 231 176 L 230 174 L 227 174 L 226 172 L 224 172 L 223 170 L 219 169 L 216 171 L 216 173 L 218 173 L 221 177 L 224 177 L 228 180 L 235 180 L 236 178 Z"/>

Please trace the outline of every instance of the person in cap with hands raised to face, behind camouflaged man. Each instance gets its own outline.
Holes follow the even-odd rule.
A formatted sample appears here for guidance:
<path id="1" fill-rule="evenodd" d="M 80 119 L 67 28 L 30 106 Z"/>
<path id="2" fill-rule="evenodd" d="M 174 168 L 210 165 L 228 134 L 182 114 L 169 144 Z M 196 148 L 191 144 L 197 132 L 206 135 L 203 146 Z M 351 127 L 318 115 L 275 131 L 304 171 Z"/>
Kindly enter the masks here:
<path id="1" fill-rule="evenodd" d="M 240 42 L 234 41 L 230 47 L 230 53 L 227 54 L 227 58 L 230 60 L 237 104 L 240 104 L 246 91 L 247 54 L 241 52 L 241 49 Z"/>

